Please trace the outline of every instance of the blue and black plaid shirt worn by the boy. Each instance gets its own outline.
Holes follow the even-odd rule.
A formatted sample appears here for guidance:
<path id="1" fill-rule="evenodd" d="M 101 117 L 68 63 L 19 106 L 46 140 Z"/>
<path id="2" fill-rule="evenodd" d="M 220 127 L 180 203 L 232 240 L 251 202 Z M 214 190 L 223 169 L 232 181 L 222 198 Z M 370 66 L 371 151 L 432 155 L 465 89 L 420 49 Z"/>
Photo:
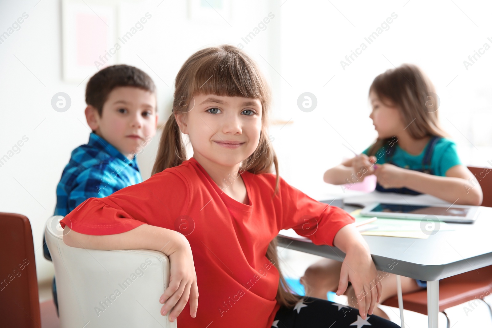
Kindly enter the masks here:
<path id="1" fill-rule="evenodd" d="M 106 197 L 140 182 L 136 156 L 127 159 L 102 137 L 91 133 L 89 143 L 74 149 L 63 169 L 54 215 L 65 216 L 91 197 Z"/>

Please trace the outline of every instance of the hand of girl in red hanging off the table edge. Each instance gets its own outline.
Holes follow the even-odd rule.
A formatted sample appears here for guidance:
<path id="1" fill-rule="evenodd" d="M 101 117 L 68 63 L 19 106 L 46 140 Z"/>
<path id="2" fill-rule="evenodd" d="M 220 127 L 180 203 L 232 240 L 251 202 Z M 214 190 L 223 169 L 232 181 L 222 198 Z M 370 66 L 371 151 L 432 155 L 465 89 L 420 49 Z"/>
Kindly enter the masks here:
<path id="1" fill-rule="evenodd" d="M 383 289 L 377 276 L 376 267 L 367 247 L 356 243 L 347 250 L 341 265 L 337 295 L 342 295 L 346 291 L 350 281 L 356 295 L 355 301 L 359 304 L 359 314 L 363 319 L 366 319 L 367 314 L 371 315 L 374 312 L 374 306 L 381 298 Z M 351 305 L 350 301 L 349 305 Z"/>

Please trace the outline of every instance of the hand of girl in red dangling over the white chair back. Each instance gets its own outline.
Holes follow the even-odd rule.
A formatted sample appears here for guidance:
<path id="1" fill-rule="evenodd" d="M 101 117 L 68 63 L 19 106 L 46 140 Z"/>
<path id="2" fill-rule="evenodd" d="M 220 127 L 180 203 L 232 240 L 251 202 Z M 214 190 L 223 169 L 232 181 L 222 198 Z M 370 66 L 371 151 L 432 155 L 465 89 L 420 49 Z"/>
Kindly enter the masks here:
<path id="1" fill-rule="evenodd" d="M 169 321 L 173 322 L 183 311 L 189 298 L 189 314 L 195 318 L 198 309 L 198 286 L 193 255 L 186 238 L 183 237 L 180 247 L 169 255 L 169 262 L 169 287 L 160 297 L 159 301 L 164 303 L 160 311 L 162 315 L 171 311 Z"/>

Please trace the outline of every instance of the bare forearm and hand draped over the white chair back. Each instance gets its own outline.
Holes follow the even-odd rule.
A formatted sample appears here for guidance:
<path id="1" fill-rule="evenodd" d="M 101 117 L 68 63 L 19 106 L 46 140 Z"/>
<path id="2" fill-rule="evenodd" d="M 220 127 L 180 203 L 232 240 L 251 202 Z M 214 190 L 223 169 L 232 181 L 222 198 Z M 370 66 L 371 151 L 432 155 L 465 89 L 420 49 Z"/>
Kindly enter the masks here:
<path id="1" fill-rule="evenodd" d="M 78 248 L 161 251 L 168 256 L 171 267 L 169 287 L 160 298 L 161 303 L 165 302 L 161 308 L 162 315 L 166 315 L 172 309 L 169 320 L 173 322 L 183 311 L 189 297 L 190 315 L 196 317 L 198 287 L 195 266 L 188 240 L 182 234 L 149 224 L 142 224 L 121 234 L 105 236 L 80 234 L 65 227 L 63 242 Z"/>

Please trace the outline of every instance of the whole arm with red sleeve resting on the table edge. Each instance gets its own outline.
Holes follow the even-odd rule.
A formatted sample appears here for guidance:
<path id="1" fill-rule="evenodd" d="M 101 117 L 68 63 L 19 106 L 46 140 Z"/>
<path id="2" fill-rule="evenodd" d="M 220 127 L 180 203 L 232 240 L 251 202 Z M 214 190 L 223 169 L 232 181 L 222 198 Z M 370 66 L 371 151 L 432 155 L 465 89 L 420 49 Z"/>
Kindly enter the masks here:
<path id="1" fill-rule="evenodd" d="M 273 191 L 275 176 L 268 177 Z M 277 207 L 276 228 L 292 228 L 297 234 L 311 239 L 315 245 L 336 246 L 345 252 L 337 294 L 345 292 L 350 280 L 359 296 L 361 317 L 372 314 L 381 295 L 381 284 L 369 246 L 353 224 L 354 217 L 343 209 L 315 201 L 282 178 L 279 179 L 278 190 L 274 203 Z M 364 298 L 362 302 L 361 298 Z"/>

